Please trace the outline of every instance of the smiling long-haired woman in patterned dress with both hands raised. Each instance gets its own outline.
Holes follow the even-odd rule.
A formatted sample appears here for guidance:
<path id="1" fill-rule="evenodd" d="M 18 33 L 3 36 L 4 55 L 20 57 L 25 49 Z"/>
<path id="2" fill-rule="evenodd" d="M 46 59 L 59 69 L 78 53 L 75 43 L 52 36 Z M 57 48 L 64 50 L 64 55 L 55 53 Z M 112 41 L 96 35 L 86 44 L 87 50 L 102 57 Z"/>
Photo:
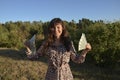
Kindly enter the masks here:
<path id="1" fill-rule="evenodd" d="M 91 50 L 91 46 L 88 43 L 81 55 L 77 55 L 72 46 L 63 21 L 60 18 L 54 18 L 48 26 L 47 39 L 35 55 L 30 55 L 28 51 L 27 56 L 30 59 L 39 58 L 42 55 L 48 56 L 49 64 L 45 80 L 73 80 L 69 67 L 70 59 L 76 63 L 83 63 L 87 52 Z"/>

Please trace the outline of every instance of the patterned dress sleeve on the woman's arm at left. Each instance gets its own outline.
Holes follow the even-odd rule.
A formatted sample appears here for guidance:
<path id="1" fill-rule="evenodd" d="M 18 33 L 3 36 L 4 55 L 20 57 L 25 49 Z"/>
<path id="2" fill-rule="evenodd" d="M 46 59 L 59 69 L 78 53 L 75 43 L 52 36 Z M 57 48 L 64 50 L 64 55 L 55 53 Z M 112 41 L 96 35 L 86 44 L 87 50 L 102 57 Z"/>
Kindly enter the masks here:
<path id="1" fill-rule="evenodd" d="M 37 59 L 39 58 L 40 56 L 42 56 L 44 54 L 44 45 L 45 45 L 45 42 L 42 43 L 42 45 L 39 47 L 39 49 L 36 51 L 36 54 L 34 55 L 27 55 L 27 57 L 29 59 Z"/>

